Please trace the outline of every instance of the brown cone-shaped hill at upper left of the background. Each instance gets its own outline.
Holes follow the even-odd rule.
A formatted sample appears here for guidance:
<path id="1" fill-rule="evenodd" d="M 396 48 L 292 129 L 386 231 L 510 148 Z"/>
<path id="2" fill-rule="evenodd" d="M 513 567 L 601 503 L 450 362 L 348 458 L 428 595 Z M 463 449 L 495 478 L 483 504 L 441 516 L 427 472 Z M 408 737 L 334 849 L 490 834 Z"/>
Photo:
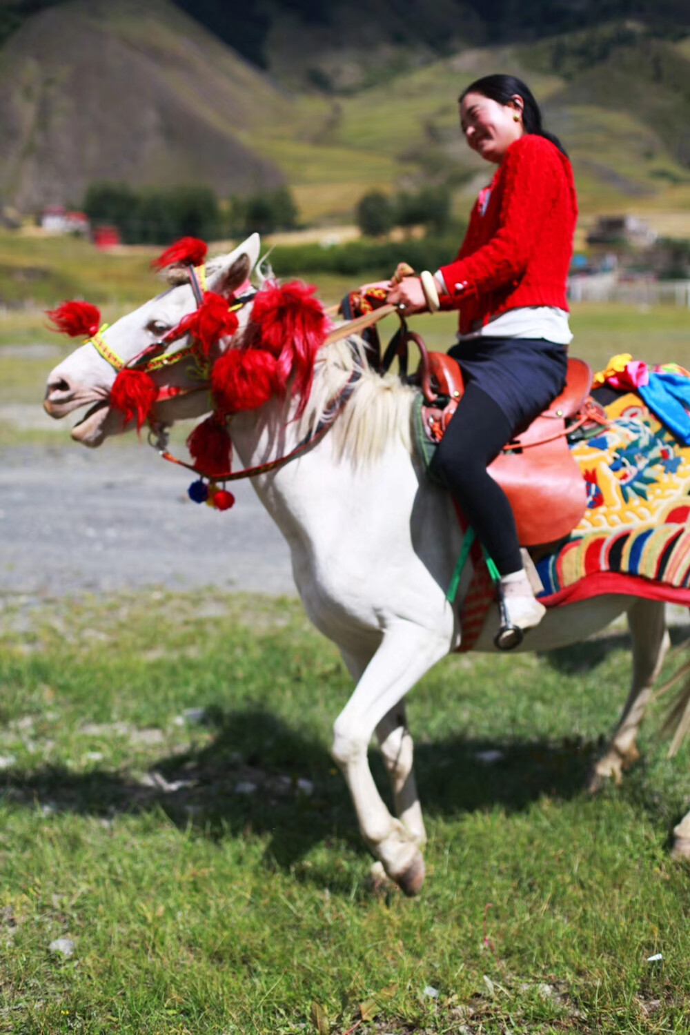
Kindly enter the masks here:
<path id="1" fill-rule="evenodd" d="M 290 101 L 168 3 L 72 0 L 29 19 L 0 51 L 0 196 L 24 210 L 79 203 L 94 180 L 211 185 L 283 174 L 240 137 Z"/>

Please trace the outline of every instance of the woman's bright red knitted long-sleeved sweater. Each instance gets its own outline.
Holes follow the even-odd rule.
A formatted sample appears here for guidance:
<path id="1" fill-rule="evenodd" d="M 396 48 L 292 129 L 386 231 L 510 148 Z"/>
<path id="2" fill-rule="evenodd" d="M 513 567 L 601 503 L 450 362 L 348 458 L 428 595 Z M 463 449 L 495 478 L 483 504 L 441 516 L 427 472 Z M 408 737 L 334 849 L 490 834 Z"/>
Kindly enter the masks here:
<path id="1" fill-rule="evenodd" d="M 448 289 L 442 307 L 461 306 L 461 334 L 523 305 L 568 308 L 577 220 L 568 158 L 544 137 L 526 134 L 510 145 L 487 189 L 488 201 L 482 190 L 472 210 L 457 259 L 441 267 Z"/>

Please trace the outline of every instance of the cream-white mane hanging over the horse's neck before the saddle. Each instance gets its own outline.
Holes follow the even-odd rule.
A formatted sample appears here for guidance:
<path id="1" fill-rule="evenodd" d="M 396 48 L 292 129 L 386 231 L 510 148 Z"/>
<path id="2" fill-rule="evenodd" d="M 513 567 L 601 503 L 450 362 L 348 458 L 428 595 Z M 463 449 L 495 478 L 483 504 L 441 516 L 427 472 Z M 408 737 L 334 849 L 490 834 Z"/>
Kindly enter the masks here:
<path id="1" fill-rule="evenodd" d="M 329 432 L 336 456 L 358 465 L 370 464 L 395 440 L 412 452 L 414 389 L 391 374 L 382 377 L 373 371 L 366 360 L 365 344 L 357 334 L 324 346 L 317 355 L 298 437 L 313 432 L 354 373 L 359 378 Z"/>

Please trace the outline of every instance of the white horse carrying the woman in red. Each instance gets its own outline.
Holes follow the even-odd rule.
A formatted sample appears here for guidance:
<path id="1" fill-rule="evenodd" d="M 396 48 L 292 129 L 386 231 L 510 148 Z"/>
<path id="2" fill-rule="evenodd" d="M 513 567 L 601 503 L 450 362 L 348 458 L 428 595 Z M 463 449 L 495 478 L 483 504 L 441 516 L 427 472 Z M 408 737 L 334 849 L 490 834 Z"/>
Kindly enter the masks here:
<path id="1" fill-rule="evenodd" d="M 259 256 L 250 237 L 209 263 L 208 286 L 230 294 Z M 180 285 L 123 317 L 104 332 L 109 348 L 131 359 L 196 308 Z M 241 326 L 250 313 L 240 314 Z M 228 343 L 224 343 L 226 345 Z M 177 351 L 184 342 L 170 347 Z M 430 484 L 411 441 L 413 390 L 368 369 L 356 338 L 325 346 L 317 359 L 306 409 L 272 400 L 238 413 L 231 437 L 245 467 L 283 456 L 313 428 L 352 372 L 361 376 L 332 428 L 297 459 L 252 478 L 262 503 L 286 537 L 295 584 L 306 612 L 338 647 L 356 682 L 334 723 L 332 753 L 350 788 L 362 836 L 386 873 L 409 894 L 424 881 L 422 811 L 413 773 L 413 741 L 404 697 L 440 658 L 460 644 L 457 609 L 446 599 L 462 535 L 448 495 Z M 156 372 L 158 385 L 199 388 L 189 364 Z M 115 371 L 91 344 L 77 349 L 51 374 L 46 409 L 60 418 L 92 405 L 72 430 L 90 447 L 123 431 L 108 398 Z M 208 412 L 207 388 L 156 406 L 156 420 Z M 129 425 L 132 426 L 131 424 Z M 468 565 L 468 569 L 469 569 Z M 463 576 L 458 599 L 470 579 Z M 668 648 L 662 603 L 608 595 L 547 612 L 520 649 L 545 651 L 578 643 L 623 612 L 632 634 L 632 688 L 618 729 L 596 767 L 596 779 L 621 778 L 637 757 L 635 738 L 652 686 Z M 494 651 L 490 614 L 475 649 Z M 391 816 L 369 770 L 367 750 L 376 733 L 389 771 L 396 817 Z M 676 851 L 690 855 L 690 814 L 676 828 Z"/>

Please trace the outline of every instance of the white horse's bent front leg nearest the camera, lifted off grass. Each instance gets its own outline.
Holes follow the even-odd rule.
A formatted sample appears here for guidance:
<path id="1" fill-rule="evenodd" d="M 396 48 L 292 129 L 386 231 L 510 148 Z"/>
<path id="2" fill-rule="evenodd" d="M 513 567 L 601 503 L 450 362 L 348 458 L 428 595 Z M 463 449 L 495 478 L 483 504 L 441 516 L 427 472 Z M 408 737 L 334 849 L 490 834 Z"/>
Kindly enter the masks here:
<path id="1" fill-rule="evenodd" d="M 367 750 L 384 717 L 447 652 L 448 641 L 429 629 L 409 621 L 391 625 L 333 726 L 332 755 L 348 782 L 362 836 L 409 895 L 421 890 L 424 859 L 414 834 L 390 815 L 379 794 Z"/>

